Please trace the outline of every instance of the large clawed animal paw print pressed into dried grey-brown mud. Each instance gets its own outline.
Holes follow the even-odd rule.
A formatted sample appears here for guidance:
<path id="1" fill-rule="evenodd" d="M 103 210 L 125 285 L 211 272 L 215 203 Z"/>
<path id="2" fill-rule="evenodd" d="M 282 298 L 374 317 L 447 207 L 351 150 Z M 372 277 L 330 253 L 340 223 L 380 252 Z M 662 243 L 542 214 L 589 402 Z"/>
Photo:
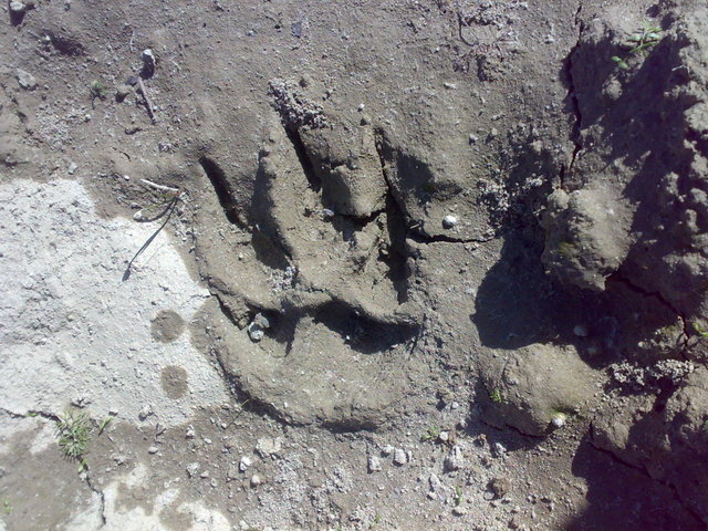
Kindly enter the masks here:
<path id="1" fill-rule="evenodd" d="M 219 251 L 233 259 L 228 277 L 211 278 L 228 317 L 218 330 L 220 364 L 239 392 L 288 421 L 372 427 L 406 391 L 421 319 L 408 301 L 405 219 L 373 134 L 371 140 L 377 175 L 366 178 L 383 184 L 383 194 L 361 199 L 356 189 L 344 190 L 352 212 L 327 202 L 350 169 L 323 168 L 311 138 L 274 128 L 259 155 L 248 258 Z M 211 158 L 199 163 L 220 216 L 242 227 L 225 171 Z M 332 168 L 333 178 L 344 176 L 335 185 L 326 181 Z M 258 343 L 247 331 L 257 313 L 270 322 Z"/>

